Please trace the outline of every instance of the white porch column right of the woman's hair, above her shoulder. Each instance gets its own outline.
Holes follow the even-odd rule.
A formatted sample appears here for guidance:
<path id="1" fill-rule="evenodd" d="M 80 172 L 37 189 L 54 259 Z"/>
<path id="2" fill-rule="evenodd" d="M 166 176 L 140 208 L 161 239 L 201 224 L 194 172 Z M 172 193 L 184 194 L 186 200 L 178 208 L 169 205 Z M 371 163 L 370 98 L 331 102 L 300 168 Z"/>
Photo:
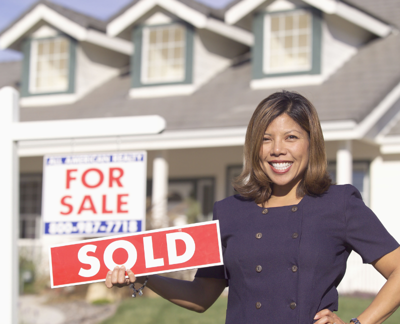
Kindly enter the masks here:
<path id="1" fill-rule="evenodd" d="M 352 183 L 353 156 L 351 153 L 351 140 L 339 142 L 336 152 L 336 182 L 337 184 Z"/>

